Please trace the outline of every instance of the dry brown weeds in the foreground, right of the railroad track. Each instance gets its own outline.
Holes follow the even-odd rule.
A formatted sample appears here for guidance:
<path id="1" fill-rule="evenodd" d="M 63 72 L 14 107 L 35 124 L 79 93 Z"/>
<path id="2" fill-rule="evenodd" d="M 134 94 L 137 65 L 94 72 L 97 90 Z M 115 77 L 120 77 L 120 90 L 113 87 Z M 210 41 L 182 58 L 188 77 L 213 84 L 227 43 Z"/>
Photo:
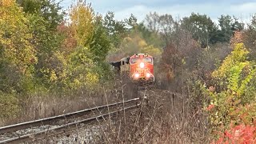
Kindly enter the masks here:
<path id="1" fill-rule="evenodd" d="M 193 98 L 166 90 L 141 93 L 148 102 L 112 119 L 102 133 L 104 143 L 207 143 L 206 116 Z"/>

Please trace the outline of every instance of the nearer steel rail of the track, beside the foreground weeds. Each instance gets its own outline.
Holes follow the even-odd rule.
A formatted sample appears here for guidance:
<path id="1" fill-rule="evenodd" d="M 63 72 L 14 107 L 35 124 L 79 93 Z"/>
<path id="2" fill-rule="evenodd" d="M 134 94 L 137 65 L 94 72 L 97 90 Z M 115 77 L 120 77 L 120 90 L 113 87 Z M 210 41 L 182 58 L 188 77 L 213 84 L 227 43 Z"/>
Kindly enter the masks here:
<path id="1" fill-rule="evenodd" d="M 93 117 L 93 118 L 86 118 L 83 120 L 80 120 L 78 122 L 70 122 L 67 123 L 65 125 L 62 126 L 58 126 L 58 127 L 54 127 L 51 128 L 49 130 L 42 130 L 40 132 L 34 133 L 34 134 L 26 134 L 26 135 L 22 135 L 22 136 L 18 136 L 16 138 L 10 138 L 10 139 L 6 139 L 0 142 L 0 144 L 2 143 L 21 143 L 21 142 L 30 142 L 33 139 L 36 138 L 44 138 L 45 135 L 50 135 L 49 133 L 54 133 L 54 131 L 62 131 L 63 129 L 66 129 L 66 127 L 70 127 L 70 126 L 77 126 L 79 123 L 90 123 L 93 121 L 98 121 L 98 120 L 102 120 L 103 118 L 109 117 L 110 115 L 114 115 L 117 114 L 123 110 L 130 110 L 130 109 L 134 109 L 135 107 L 138 107 L 140 104 L 136 104 L 134 106 L 128 106 L 126 108 L 123 108 L 122 110 L 115 110 L 113 112 L 107 113 L 107 114 L 101 114 L 99 116 Z"/>

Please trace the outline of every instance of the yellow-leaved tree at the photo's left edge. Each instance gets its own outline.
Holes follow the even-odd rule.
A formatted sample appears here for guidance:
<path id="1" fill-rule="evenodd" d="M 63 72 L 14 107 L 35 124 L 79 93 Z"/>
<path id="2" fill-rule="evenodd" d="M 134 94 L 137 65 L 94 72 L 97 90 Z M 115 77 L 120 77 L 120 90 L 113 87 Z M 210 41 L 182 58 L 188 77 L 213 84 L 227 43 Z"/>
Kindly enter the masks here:
<path id="1" fill-rule="evenodd" d="M 31 43 L 29 21 L 14 0 L 0 6 L 0 90 L 22 92 L 31 89 L 36 50 Z"/>

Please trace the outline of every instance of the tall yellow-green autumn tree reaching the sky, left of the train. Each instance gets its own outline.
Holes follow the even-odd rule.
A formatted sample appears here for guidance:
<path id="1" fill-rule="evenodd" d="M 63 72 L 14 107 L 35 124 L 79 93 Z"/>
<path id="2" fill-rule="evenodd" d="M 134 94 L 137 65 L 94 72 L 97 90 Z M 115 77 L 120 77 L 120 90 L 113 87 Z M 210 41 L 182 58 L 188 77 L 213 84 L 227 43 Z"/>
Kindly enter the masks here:
<path id="1" fill-rule="evenodd" d="M 107 78 L 109 66 L 105 59 L 110 39 L 102 17 L 85 2 L 77 2 L 70 9 L 70 28 L 74 31 L 76 48 L 69 56 L 70 86 L 94 86 Z"/>

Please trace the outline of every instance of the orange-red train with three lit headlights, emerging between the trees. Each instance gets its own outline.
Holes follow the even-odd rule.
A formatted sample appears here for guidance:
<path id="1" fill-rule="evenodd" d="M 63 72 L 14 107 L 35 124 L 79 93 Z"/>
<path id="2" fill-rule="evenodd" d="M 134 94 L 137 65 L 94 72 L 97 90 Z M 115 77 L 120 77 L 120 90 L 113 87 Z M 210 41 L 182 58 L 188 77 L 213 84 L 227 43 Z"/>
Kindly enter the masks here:
<path id="1" fill-rule="evenodd" d="M 154 83 L 154 58 L 149 54 L 134 54 L 118 62 L 110 62 L 122 75 L 127 74 L 131 82 Z"/>

